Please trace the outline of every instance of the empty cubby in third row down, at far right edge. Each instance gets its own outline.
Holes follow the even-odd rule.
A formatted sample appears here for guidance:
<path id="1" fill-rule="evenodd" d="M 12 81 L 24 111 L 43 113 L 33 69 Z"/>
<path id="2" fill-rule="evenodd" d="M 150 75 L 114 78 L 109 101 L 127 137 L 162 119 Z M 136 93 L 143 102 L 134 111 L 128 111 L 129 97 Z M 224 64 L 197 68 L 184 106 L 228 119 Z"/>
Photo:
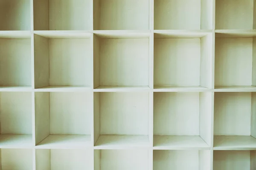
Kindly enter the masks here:
<path id="1" fill-rule="evenodd" d="M 215 150 L 256 148 L 256 93 L 215 92 Z"/>

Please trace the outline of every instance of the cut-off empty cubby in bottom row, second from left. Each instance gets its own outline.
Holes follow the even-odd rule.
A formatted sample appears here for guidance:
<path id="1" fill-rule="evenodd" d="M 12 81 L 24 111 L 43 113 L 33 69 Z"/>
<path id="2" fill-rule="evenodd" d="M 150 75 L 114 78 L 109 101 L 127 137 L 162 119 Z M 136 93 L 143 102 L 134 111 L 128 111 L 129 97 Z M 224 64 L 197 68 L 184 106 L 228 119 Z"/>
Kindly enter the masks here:
<path id="1" fill-rule="evenodd" d="M 93 149 L 36 149 L 36 170 L 93 170 Z"/>

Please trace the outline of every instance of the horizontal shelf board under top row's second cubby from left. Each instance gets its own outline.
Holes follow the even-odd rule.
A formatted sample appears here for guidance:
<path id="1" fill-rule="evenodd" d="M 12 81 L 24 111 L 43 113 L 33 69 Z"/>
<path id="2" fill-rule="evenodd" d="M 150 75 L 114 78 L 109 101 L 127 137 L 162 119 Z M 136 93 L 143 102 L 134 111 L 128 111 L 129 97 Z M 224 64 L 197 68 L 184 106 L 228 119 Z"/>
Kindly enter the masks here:
<path id="1" fill-rule="evenodd" d="M 54 39 L 66 38 L 90 38 L 92 31 L 34 31 L 34 34 Z"/>

